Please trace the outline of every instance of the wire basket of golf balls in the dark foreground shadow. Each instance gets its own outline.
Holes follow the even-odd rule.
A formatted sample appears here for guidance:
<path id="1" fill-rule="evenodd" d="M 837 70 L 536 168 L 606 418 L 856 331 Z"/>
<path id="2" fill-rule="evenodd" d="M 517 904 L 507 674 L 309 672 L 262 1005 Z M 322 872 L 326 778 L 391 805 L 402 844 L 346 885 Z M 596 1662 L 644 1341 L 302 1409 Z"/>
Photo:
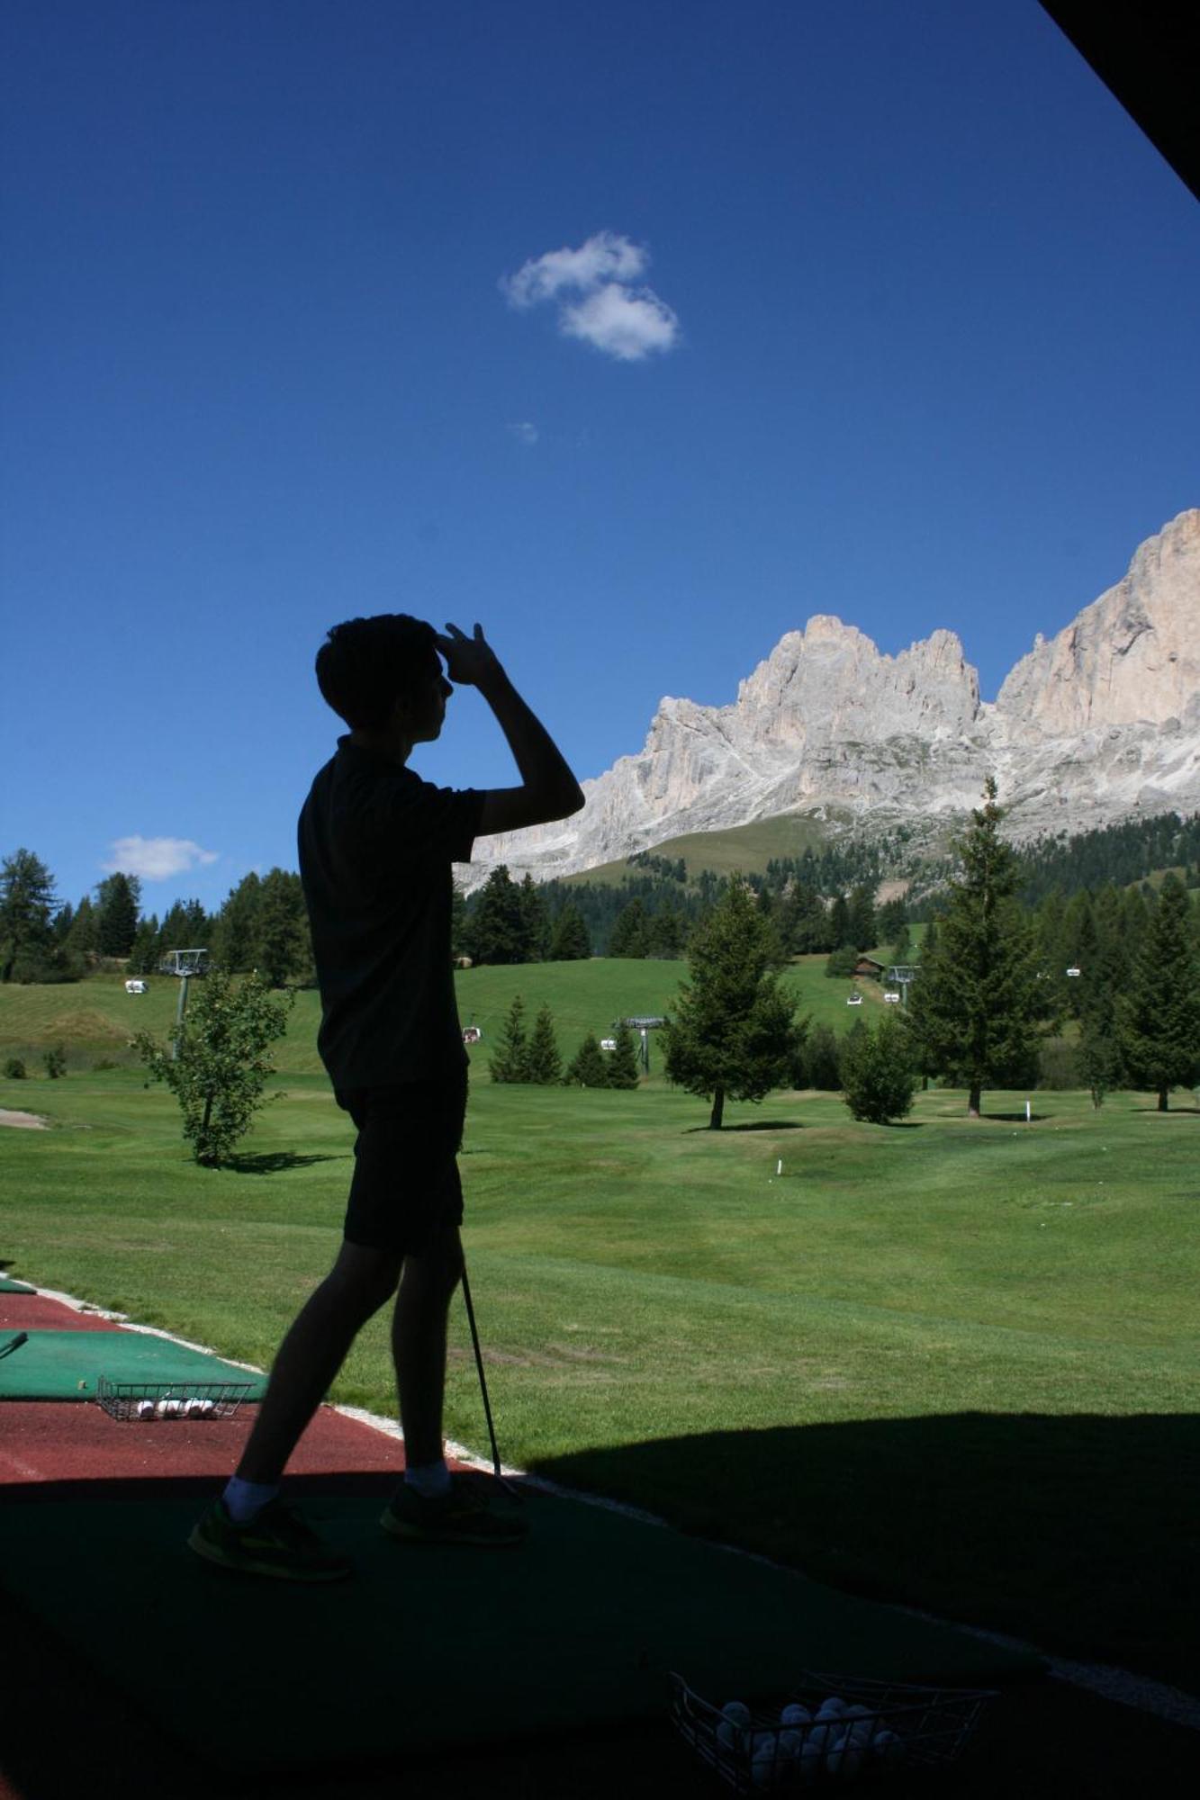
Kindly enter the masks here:
<path id="1" fill-rule="evenodd" d="M 714 1706 L 683 1676 L 670 1679 L 676 1730 L 737 1795 L 849 1787 L 953 1762 L 996 1697 L 986 1688 L 804 1674 L 786 1696 Z"/>

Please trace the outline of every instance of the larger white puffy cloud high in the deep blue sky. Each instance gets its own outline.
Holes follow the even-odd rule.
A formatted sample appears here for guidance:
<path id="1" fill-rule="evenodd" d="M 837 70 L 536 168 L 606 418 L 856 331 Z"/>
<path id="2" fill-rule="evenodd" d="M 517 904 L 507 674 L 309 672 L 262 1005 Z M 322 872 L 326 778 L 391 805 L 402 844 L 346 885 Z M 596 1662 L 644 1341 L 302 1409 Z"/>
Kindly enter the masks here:
<path id="1" fill-rule="evenodd" d="M 542 301 L 559 306 L 559 329 L 582 338 L 618 362 L 667 353 L 679 338 L 679 319 L 652 288 L 632 286 L 649 252 L 618 232 L 602 230 L 578 250 L 546 250 L 515 275 L 501 279 L 510 306 L 524 311 Z"/>

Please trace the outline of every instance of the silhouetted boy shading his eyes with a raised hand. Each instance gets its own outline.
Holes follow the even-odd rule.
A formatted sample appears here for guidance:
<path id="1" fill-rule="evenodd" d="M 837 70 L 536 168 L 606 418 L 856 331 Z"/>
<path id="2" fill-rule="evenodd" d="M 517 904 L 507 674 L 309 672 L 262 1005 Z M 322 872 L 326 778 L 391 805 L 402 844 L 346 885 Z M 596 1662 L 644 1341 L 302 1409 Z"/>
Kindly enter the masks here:
<path id="1" fill-rule="evenodd" d="M 438 788 L 405 767 L 441 733 L 450 680 L 477 688 L 521 774 L 515 788 Z M 213 1562 L 337 1580 L 350 1562 L 279 1498 L 279 1481 L 366 1321 L 393 1296 L 405 1476 L 395 1537 L 510 1544 L 521 1521 L 450 1476 L 441 1438 L 447 1316 L 463 1269 L 458 1147 L 467 1051 L 450 967 L 450 864 L 476 837 L 566 819 L 584 796 L 555 743 L 474 637 L 405 614 L 335 625 L 321 693 L 350 725 L 299 819 L 299 864 L 321 985 L 317 1046 L 357 1125 L 344 1242 L 288 1330 L 238 1472 L 191 1534 Z"/>

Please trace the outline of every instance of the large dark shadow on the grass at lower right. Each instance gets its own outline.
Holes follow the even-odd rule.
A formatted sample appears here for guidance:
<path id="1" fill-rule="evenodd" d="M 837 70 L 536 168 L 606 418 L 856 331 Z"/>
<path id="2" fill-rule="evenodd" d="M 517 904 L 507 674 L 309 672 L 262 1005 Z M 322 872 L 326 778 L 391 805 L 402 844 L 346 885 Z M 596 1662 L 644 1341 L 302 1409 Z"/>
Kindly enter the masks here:
<path id="1" fill-rule="evenodd" d="M 598 1447 L 532 1472 L 816 1580 L 1200 1692 L 1200 1417 L 950 1413 Z"/>

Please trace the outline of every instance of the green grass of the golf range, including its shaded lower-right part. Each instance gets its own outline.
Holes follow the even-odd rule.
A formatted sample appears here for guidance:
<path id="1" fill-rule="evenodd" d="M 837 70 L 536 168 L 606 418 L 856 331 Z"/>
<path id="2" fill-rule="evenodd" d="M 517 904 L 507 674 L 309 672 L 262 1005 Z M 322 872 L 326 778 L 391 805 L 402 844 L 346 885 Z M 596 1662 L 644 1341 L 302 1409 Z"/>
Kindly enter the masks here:
<path id="1" fill-rule="evenodd" d="M 789 979 L 843 1026 L 845 988 L 814 965 Z M 861 1593 L 1200 1683 L 1189 1096 L 1159 1114 L 1041 1093 L 1025 1123 L 1023 1093 L 969 1121 L 964 1094 L 930 1091 L 886 1129 L 784 1093 L 730 1105 L 717 1134 L 659 1075 L 636 1093 L 486 1080 L 514 992 L 550 1003 L 569 1053 L 667 1008 L 679 976 L 461 977 L 485 1028 L 465 1242 L 505 1458 Z M 166 1028 L 175 999 L 0 990 L 0 1057 L 117 1048 L 133 1010 Z M 0 1107 L 50 1123 L 0 1132 L 0 1264 L 267 1364 L 335 1253 L 350 1177 L 314 1028 L 301 995 L 277 1098 L 222 1172 L 189 1161 L 175 1102 L 133 1067 L 0 1082 Z M 393 1409 L 386 1339 L 378 1318 L 335 1399 Z M 486 1449 L 459 1309 L 447 1429 Z"/>

